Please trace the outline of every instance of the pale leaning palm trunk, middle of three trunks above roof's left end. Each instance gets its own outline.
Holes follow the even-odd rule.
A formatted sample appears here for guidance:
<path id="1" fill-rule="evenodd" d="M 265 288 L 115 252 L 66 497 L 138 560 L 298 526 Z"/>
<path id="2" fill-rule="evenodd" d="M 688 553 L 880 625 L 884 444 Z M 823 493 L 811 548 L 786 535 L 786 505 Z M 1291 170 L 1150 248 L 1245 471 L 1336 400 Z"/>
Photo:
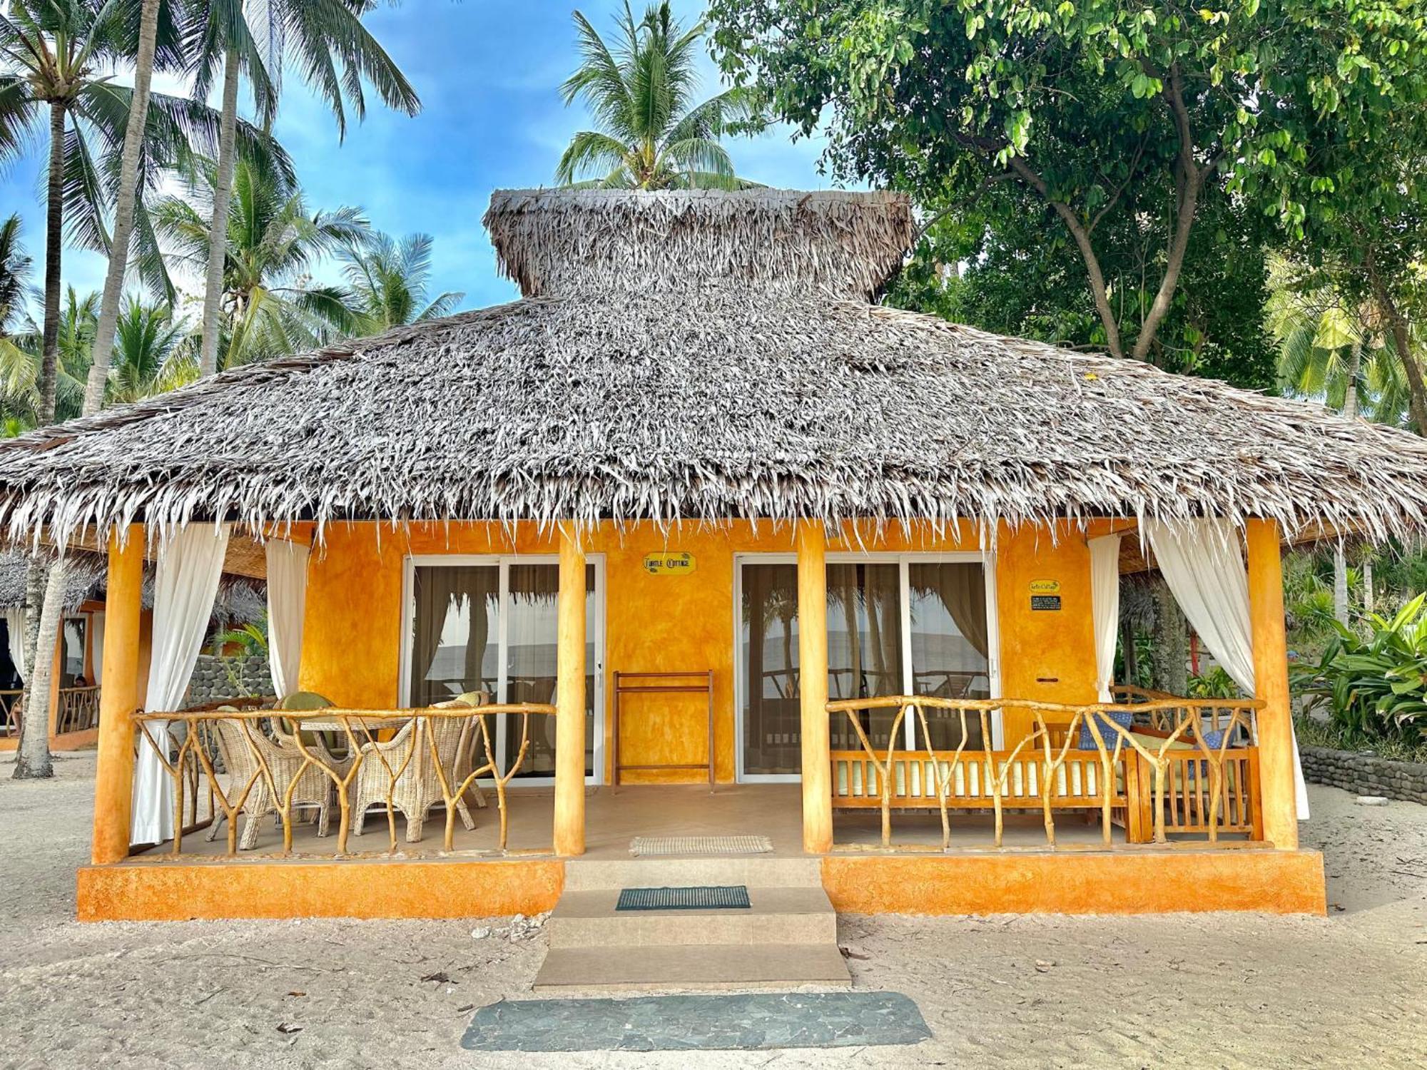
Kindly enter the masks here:
<path id="1" fill-rule="evenodd" d="M 158 0 L 144 0 L 138 23 L 134 97 L 128 110 L 128 126 L 124 128 L 124 153 L 120 158 L 118 203 L 114 210 L 114 241 L 108 250 L 104 295 L 98 305 L 98 327 L 94 332 L 94 362 L 90 365 L 88 382 L 84 388 L 86 417 L 98 412 L 104 405 L 108 362 L 114 352 L 118 300 L 124 290 L 124 270 L 128 267 L 128 243 L 134 233 L 134 205 L 138 201 L 138 154 L 144 147 L 144 121 L 148 117 L 148 88 L 154 77 L 154 43 L 157 37 Z"/>

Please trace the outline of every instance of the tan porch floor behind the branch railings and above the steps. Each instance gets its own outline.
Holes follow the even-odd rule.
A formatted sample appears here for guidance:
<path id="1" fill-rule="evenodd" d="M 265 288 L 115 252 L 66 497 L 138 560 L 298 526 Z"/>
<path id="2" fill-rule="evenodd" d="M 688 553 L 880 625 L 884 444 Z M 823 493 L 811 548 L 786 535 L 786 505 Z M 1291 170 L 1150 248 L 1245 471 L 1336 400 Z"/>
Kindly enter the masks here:
<path id="1" fill-rule="evenodd" d="M 454 850 L 458 855 L 494 852 L 499 835 L 495 793 L 487 792 L 487 807 L 472 807 L 475 829 L 467 832 L 457 820 Z M 517 788 L 507 796 L 509 809 L 508 849 L 519 853 L 548 853 L 554 820 L 555 795 L 552 788 Z M 624 786 L 588 788 L 585 793 L 585 850 L 594 859 L 628 859 L 629 842 L 635 836 L 725 836 L 762 835 L 773 845 L 775 855 L 802 853 L 801 789 L 788 785 L 719 785 L 714 793 L 705 786 Z M 421 843 L 405 842 L 405 822 L 397 815 L 398 852 L 407 857 L 442 853 L 444 812 L 432 810 L 427 819 Z M 985 815 L 953 815 L 952 843 L 962 847 L 990 847 L 993 819 Z M 227 850 L 227 829 L 220 829 L 213 843 L 207 832 L 188 833 L 183 853 L 223 855 Z M 896 845 L 940 843 L 940 819 L 935 812 L 892 813 L 892 840 Z M 833 837 L 841 847 L 876 846 L 880 842 L 880 813 L 839 810 L 833 817 Z M 1123 829 L 1114 829 L 1116 842 L 1123 842 Z M 1056 840 L 1060 845 L 1096 845 L 1100 842 L 1099 815 L 1090 822 L 1082 812 L 1056 813 Z M 1040 812 L 1007 812 L 1005 845 L 1010 847 L 1042 847 L 1046 843 Z M 384 853 L 387 850 L 387 817 L 380 809 L 371 810 L 362 836 L 351 836 L 351 853 Z M 264 822 L 258 845 L 240 857 L 274 855 L 283 849 L 283 835 L 274 819 Z M 317 836 L 314 823 L 300 823 L 294 829 L 293 853 L 304 857 L 330 856 L 337 850 L 337 815 L 332 813 L 331 835 Z M 141 857 L 161 857 L 164 849 Z"/>

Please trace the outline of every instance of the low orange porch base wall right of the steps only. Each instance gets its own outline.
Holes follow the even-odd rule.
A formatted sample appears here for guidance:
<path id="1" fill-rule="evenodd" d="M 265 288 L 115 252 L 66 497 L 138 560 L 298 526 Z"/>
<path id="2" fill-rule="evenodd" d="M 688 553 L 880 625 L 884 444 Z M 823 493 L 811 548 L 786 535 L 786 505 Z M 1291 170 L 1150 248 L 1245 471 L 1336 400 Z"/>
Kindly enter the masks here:
<path id="1" fill-rule="evenodd" d="M 839 856 L 822 860 L 839 912 L 899 914 L 1323 914 L 1316 850 Z"/>

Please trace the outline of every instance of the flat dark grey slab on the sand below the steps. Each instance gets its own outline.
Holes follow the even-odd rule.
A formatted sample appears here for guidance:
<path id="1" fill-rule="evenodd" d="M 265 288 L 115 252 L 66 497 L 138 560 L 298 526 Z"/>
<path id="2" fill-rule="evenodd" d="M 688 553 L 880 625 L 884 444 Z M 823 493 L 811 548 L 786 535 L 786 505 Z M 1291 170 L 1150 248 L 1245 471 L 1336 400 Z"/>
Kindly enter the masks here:
<path id="1" fill-rule="evenodd" d="M 896 992 L 501 1000 L 471 1019 L 468 1051 L 766 1051 L 880 1047 L 932 1036 Z"/>

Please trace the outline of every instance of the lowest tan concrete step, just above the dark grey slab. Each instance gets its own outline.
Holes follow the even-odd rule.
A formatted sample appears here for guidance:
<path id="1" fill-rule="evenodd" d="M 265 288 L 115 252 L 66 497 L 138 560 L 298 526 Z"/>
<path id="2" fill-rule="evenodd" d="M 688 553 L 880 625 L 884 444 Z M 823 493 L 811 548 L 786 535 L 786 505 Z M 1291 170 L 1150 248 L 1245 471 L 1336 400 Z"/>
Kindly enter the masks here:
<path id="1" fill-rule="evenodd" d="M 551 947 L 535 992 L 850 987 L 836 943 L 629 947 Z"/>

